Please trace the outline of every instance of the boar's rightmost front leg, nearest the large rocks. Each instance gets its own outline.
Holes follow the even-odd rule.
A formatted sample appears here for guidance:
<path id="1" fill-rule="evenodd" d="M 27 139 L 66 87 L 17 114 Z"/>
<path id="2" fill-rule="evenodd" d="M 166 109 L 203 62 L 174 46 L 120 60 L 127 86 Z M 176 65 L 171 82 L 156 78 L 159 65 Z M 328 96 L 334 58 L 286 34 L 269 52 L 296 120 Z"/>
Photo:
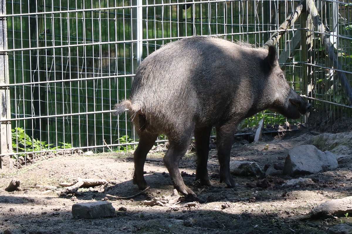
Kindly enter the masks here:
<path id="1" fill-rule="evenodd" d="M 230 173 L 230 153 L 233 145 L 233 125 L 216 127 L 216 145 L 218 146 L 218 159 L 220 164 L 220 183 L 225 182 L 228 188 L 237 183 Z"/>

